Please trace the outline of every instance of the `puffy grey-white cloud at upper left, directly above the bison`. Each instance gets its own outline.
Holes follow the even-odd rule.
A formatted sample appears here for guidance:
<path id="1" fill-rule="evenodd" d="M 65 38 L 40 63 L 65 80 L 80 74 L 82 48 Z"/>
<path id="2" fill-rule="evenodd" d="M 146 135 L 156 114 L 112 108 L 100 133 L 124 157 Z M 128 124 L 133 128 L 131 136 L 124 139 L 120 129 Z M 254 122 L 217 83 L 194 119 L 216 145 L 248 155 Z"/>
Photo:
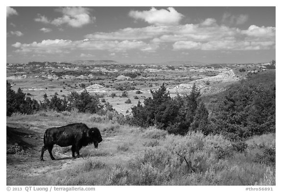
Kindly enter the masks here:
<path id="1" fill-rule="evenodd" d="M 38 18 L 35 18 L 35 21 L 50 23 L 56 26 L 62 24 L 68 24 L 71 27 L 82 27 L 83 25 L 93 23 L 95 17 L 90 15 L 90 9 L 85 7 L 62 7 L 56 9 L 57 12 L 63 14 L 62 17 L 55 18 L 53 20 L 47 19 L 45 16 L 39 15 Z"/>

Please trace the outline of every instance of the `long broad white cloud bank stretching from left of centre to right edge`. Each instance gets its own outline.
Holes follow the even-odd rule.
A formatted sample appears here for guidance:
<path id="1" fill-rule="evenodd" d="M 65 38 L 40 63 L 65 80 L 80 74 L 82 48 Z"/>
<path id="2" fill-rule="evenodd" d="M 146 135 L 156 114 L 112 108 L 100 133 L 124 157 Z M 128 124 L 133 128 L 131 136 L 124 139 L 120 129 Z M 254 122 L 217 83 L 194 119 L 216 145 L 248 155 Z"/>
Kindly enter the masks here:
<path id="1" fill-rule="evenodd" d="M 192 48 L 203 50 L 254 50 L 275 47 L 275 45 L 270 46 L 262 43 L 272 42 L 275 44 L 275 27 L 251 25 L 247 30 L 241 30 L 236 27 L 218 25 L 216 20 L 212 18 L 198 24 L 125 28 L 109 33 L 96 32 L 85 37 L 94 41 L 149 40 L 151 45 L 159 46 L 161 43 L 174 43 L 174 50 Z M 216 42 L 218 46 L 216 46 Z M 249 45 L 250 42 L 252 42 L 252 45 Z M 258 42 L 259 45 L 254 46 L 255 42 Z M 235 45 L 228 46 L 229 43 L 235 43 Z M 143 50 L 149 50 L 149 48 Z"/>

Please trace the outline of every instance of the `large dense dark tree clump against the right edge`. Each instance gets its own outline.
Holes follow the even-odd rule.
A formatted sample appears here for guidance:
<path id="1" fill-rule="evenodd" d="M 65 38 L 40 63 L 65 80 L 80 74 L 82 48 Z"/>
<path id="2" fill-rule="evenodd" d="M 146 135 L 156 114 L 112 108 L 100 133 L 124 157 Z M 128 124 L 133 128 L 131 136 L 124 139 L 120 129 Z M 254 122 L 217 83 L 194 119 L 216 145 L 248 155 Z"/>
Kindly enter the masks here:
<path id="1" fill-rule="evenodd" d="M 234 140 L 275 132 L 275 85 L 230 88 L 212 123 L 213 132 Z"/>

